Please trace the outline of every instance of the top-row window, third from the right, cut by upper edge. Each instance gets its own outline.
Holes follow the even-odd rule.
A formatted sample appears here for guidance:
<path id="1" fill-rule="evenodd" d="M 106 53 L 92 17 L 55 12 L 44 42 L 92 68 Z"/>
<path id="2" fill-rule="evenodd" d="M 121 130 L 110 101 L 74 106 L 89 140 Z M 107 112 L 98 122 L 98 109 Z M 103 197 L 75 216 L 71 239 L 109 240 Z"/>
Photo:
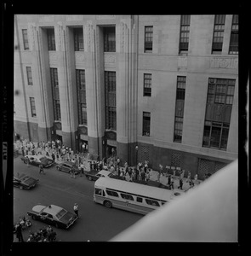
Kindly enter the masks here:
<path id="1" fill-rule="evenodd" d="M 180 53 L 188 51 L 191 15 L 181 15 L 180 22 Z"/>

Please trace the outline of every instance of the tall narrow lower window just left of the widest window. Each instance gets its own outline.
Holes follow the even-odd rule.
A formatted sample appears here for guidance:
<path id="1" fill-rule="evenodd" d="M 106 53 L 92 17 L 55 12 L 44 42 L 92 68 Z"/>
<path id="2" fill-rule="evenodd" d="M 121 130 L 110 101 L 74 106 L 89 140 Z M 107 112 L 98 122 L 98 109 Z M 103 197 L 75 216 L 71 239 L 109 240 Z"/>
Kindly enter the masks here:
<path id="1" fill-rule="evenodd" d="M 176 105 L 174 118 L 174 143 L 182 142 L 183 116 L 185 104 L 186 77 L 177 77 Z"/>

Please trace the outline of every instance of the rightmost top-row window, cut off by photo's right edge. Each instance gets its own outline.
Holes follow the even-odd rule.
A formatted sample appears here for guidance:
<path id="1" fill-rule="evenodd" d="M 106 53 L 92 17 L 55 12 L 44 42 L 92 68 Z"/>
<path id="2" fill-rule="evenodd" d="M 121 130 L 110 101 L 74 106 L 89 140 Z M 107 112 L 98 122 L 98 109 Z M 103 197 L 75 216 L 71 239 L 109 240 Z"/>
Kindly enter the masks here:
<path id="1" fill-rule="evenodd" d="M 239 16 L 233 15 L 232 25 L 231 25 L 231 38 L 230 38 L 230 45 L 229 45 L 230 55 L 237 55 L 239 53 L 238 39 L 239 39 Z"/>

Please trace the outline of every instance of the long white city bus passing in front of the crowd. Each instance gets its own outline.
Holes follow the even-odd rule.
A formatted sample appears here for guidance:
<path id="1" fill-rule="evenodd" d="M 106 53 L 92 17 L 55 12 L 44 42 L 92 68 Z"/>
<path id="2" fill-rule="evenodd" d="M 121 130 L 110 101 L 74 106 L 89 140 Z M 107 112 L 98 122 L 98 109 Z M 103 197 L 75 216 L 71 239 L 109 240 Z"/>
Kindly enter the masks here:
<path id="1" fill-rule="evenodd" d="M 94 183 L 94 202 L 141 214 L 162 207 L 183 193 L 180 189 L 159 189 L 111 177 L 100 177 Z"/>

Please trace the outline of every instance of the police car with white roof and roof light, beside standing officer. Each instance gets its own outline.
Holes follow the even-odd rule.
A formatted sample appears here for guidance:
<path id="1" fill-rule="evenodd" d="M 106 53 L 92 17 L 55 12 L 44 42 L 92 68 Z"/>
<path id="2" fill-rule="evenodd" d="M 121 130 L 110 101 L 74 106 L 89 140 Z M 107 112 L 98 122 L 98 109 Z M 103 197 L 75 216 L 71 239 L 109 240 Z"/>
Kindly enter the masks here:
<path id="1" fill-rule="evenodd" d="M 41 220 L 61 229 L 69 229 L 78 218 L 75 213 L 68 212 L 66 209 L 55 205 L 49 205 L 48 207 L 37 205 L 27 214 L 33 219 Z"/>

